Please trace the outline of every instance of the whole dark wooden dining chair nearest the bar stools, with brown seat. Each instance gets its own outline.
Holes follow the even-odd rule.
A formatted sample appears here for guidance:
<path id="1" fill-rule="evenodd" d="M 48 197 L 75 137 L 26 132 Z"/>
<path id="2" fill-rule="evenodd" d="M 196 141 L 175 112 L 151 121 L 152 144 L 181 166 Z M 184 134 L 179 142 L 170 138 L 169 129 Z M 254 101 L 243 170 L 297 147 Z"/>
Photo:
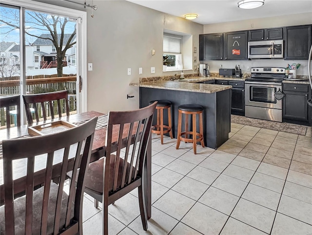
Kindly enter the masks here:
<path id="1" fill-rule="evenodd" d="M 108 206 L 135 188 L 143 229 L 147 230 L 144 162 L 156 103 L 132 111 L 109 112 L 106 157 L 90 163 L 85 177 L 85 193 L 96 199 L 96 207 L 98 201 L 103 203 L 104 235 L 108 235 Z M 113 133 L 117 140 L 112 138 Z"/>

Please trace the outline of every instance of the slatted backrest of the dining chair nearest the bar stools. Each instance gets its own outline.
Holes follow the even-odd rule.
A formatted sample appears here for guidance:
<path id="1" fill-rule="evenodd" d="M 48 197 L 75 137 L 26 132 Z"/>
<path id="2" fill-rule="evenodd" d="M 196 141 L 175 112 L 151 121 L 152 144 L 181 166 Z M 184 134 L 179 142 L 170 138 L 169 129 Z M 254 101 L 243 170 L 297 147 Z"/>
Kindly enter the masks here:
<path id="1" fill-rule="evenodd" d="M 139 180 L 142 176 L 143 165 L 140 164 L 145 160 L 145 153 L 147 148 L 148 139 L 150 137 L 153 113 L 156 108 L 156 102 L 148 107 L 132 110 L 132 111 L 110 111 L 107 133 L 106 133 L 106 161 L 104 170 L 104 199 L 106 195 L 115 193 L 116 191 L 126 187 L 133 181 Z M 129 129 L 126 133 L 125 129 Z M 116 162 L 114 167 L 111 165 L 111 158 L 114 157 L 112 154 L 112 136 L 116 135 L 118 131 L 117 139 L 117 154 Z M 119 163 L 121 157 L 121 148 L 125 147 L 123 150 L 125 156 L 123 159 L 123 164 L 120 166 Z M 137 146 L 139 150 L 137 151 Z M 129 154 L 130 147 L 132 147 L 132 153 Z M 115 151 L 116 149 L 114 149 Z M 144 152 L 144 154 L 142 154 Z M 130 158 L 130 159 L 129 159 Z M 122 171 L 122 172 L 120 172 Z M 113 173 L 114 179 L 112 189 L 109 189 L 109 175 L 110 172 Z M 112 190 L 109 192 L 109 190 Z"/>

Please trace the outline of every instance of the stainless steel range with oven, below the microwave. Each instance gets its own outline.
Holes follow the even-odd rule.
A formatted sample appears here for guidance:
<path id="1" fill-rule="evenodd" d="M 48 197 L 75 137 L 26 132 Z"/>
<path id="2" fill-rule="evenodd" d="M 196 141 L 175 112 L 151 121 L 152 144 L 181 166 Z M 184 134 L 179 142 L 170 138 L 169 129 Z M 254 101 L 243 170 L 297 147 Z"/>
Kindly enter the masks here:
<path id="1" fill-rule="evenodd" d="M 274 94 L 282 90 L 285 68 L 257 67 L 245 81 L 245 116 L 282 122 L 282 100 Z"/>

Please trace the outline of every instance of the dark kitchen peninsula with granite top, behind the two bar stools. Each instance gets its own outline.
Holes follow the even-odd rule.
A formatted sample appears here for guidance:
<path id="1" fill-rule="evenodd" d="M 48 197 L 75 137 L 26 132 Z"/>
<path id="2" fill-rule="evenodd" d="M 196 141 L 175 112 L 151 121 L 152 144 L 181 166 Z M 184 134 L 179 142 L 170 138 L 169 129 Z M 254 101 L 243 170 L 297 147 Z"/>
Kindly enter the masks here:
<path id="1" fill-rule="evenodd" d="M 130 86 L 139 87 L 140 108 L 148 106 L 152 100 L 171 101 L 172 128 L 175 138 L 177 135 L 178 106 L 183 104 L 201 105 L 204 108 L 203 128 L 205 146 L 216 149 L 228 140 L 229 132 L 231 131 L 232 86 L 195 83 L 198 80 L 204 79 L 140 82 L 131 83 Z M 168 122 L 166 114 L 164 115 L 164 122 Z M 155 119 L 154 124 L 156 124 Z M 198 127 L 197 130 L 199 130 Z"/>

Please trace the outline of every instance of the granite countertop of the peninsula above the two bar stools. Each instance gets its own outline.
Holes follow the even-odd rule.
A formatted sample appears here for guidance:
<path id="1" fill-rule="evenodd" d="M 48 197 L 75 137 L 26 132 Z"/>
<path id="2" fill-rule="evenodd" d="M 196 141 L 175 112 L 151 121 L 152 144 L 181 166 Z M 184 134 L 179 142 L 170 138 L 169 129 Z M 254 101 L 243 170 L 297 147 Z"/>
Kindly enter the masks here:
<path id="1" fill-rule="evenodd" d="M 209 78 L 210 77 L 208 77 L 208 79 Z M 189 78 L 189 79 L 194 79 L 194 78 Z M 214 79 L 210 78 L 209 80 L 214 80 Z M 205 81 L 209 81 L 209 80 L 205 80 Z M 200 81 L 204 81 L 204 80 L 200 80 Z M 195 81 L 192 81 L 192 82 L 157 81 L 157 82 L 130 83 L 129 85 L 134 86 L 134 87 L 156 88 L 156 89 L 164 89 L 164 90 L 182 90 L 182 91 L 199 92 L 199 93 L 215 93 L 218 91 L 228 90 L 232 88 L 232 86 L 228 86 L 228 85 L 201 84 L 201 83 L 195 83 Z"/>

